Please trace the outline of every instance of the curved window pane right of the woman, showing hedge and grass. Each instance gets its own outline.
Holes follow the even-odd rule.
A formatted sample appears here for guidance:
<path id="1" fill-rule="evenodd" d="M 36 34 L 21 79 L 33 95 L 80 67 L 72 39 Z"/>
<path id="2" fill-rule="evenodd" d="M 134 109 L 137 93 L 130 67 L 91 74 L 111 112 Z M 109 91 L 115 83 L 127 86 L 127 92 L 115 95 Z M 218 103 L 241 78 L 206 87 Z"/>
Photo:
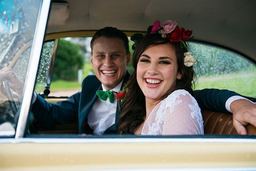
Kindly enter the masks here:
<path id="1" fill-rule="evenodd" d="M 197 63 L 196 89 L 217 88 L 256 97 L 256 65 L 236 53 L 191 43 Z"/>

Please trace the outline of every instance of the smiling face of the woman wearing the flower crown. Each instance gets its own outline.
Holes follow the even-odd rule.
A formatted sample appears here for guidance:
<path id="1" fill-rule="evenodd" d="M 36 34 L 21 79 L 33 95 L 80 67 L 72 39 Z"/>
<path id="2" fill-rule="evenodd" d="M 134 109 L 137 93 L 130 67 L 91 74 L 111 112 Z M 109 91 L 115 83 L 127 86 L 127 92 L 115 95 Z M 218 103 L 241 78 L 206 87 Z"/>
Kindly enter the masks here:
<path id="1" fill-rule="evenodd" d="M 160 102 L 181 76 L 177 70 L 177 57 L 169 44 L 147 48 L 137 64 L 137 82 L 146 100 Z"/>

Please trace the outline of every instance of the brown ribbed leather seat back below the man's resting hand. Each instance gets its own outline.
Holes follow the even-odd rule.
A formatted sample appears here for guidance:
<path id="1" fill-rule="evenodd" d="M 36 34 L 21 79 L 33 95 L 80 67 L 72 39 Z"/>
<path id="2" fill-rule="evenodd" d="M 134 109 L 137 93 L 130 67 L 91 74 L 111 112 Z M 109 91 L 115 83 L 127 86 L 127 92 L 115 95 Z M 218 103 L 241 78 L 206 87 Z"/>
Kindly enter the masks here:
<path id="1" fill-rule="evenodd" d="M 233 126 L 232 114 L 202 110 L 204 134 L 237 134 Z M 248 135 L 256 135 L 256 128 L 249 124 L 246 127 Z"/>

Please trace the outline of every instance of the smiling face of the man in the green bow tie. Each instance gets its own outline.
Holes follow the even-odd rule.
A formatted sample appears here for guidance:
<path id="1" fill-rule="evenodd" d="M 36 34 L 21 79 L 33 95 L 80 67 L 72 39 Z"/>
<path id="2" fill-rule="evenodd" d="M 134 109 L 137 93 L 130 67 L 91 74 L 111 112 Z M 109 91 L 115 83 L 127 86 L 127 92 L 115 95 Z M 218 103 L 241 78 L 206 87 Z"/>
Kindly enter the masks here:
<path id="1" fill-rule="evenodd" d="M 113 89 L 122 81 L 129 63 L 130 52 L 126 54 L 122 39 L 107 37 L 95 39 L 91 52 L 91 66 L 96 77 L 107 90 Z"/>

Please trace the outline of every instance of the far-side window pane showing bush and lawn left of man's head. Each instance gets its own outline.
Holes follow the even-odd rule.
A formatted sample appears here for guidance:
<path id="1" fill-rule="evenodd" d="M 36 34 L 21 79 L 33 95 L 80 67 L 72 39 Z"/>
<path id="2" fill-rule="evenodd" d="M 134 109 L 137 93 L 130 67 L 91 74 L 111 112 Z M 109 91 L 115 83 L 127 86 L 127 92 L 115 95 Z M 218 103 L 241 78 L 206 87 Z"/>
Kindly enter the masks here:
<path id="1" fill-rule="evenodd" d="M 93 74 L 90 64 L 92 37 L 67 37 L 59 40 L 49 96 L 69 97 L 81 90 L 82 80 Z"/>

